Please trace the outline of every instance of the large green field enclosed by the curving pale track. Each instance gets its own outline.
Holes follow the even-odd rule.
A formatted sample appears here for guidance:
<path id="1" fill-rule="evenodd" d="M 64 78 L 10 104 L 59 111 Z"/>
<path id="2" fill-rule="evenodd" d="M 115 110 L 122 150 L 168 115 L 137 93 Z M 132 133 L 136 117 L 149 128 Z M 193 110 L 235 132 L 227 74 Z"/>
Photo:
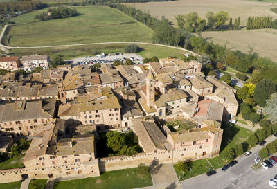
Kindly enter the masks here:
<path id="1" fill-rule="evenodd" d="M 39 10 L 12 21 L 3 42 L 8 46 L 50 46 L 93 42 L 151 42 L 152 30 L 119 10 L 106 6 L 74 7 L 80 15 L 66 19 L 36 21 Z"/>

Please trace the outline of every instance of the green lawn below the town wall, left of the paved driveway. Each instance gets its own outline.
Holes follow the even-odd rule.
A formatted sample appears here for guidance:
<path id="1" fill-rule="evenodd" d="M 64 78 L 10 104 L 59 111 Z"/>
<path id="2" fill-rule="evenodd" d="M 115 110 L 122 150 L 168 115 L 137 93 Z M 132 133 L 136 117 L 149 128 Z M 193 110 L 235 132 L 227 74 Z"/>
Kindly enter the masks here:
<path id="1" fill-rule="evenodd" d="M 137 168 L 116 170 L 104 172 L 100 177 L 91 177 L 87 179 L 79 179 L 73 181 L 62 181 L 55 183 L 54 189 L 79 189 L 79 188 L 140 188 L 145 186 L 152 186 L 152 179 L 149 174 L 143 179 L 139 177 Z"/>

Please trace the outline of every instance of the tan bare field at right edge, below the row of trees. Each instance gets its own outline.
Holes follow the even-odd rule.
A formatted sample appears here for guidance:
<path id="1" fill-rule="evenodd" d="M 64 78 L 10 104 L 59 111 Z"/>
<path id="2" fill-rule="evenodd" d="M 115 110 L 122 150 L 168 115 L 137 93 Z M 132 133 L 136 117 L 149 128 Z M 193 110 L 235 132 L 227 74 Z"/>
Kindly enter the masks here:
<path id="1" fill-rule="evenodd" d="M 224 32 L 203 32 L 203 37 L 213 40 L 215 44 L 224 45 L 233 50 L 248 53 L 249 45 L 258 55 L 270 57 L 277 62 L 277 30 L 239 30 Z"/>

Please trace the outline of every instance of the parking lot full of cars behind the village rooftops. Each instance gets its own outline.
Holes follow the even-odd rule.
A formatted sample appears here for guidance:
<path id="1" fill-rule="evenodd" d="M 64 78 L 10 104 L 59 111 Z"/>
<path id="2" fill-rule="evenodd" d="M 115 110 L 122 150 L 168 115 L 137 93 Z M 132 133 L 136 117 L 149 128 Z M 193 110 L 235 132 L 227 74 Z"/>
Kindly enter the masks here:
<path id="1" fill-rule="evenodd" d="M 125 62 L 127 59 L 132 60 L 134 64 L 142 64 L 143 57 L 136 54 L 123 54 L 123 53 L 114 53 L 108 55 L 95 55 L 95 56 L 86 56 L 86 57 L 77 57 L 72 60 L 68 60 L 73 65 L 80 64 L 112 64 L 114 61 L 118 60 Z"/>

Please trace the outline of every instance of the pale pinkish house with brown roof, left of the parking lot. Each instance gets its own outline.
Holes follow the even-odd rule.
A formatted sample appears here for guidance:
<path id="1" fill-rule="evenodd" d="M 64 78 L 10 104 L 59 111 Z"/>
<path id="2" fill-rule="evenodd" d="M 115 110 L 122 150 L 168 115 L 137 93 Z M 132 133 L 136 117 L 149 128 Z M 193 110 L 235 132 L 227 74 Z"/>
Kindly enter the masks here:
<path id="1" fill-rule="evenodd" d="M 26 71 L 32 71 L 32 69 L 42 67 L 43 69 L 49 69 L 49 56 L 48 55 L 30 55 L 23 56 L 21 62 Z"/>

